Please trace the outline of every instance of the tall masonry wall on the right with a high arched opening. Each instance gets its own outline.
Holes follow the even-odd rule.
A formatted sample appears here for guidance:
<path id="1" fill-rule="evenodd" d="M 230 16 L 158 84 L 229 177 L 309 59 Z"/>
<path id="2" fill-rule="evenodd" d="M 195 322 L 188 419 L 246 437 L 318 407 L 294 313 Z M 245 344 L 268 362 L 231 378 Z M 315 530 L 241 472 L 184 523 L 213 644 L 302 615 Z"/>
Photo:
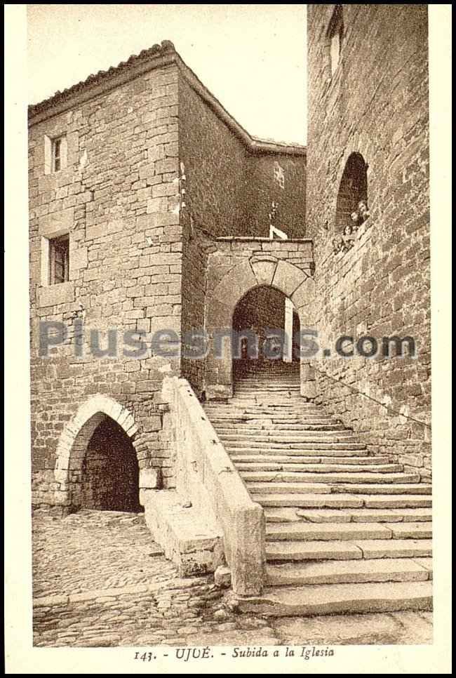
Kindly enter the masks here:
<path id="1" fill-rule="evenodd" d="M 326 359 L 321 401 L 373 451 L 429 477 L 430 297 L 427 6 L 344 5 L 330 71 L 332 5 L 308 6 L 307 236 L 314 239 L 321 345 L 340 335 L 411 335 L 416 359 Z M 335 254 L 349 154 L 368 164 L 370 218 Z M 362 392 L 364 395 L 359 394 Z"/>

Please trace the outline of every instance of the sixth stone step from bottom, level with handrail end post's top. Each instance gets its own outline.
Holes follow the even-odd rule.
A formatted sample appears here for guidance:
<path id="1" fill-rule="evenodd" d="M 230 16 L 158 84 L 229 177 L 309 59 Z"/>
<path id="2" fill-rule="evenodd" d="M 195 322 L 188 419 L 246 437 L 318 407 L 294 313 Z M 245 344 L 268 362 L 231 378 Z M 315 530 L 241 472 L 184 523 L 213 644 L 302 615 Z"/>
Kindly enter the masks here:
<path id="1" fill-rule="evenodd" d="M 428 508 L 432 498 L 428 495 L 351 495 L 351 494 L 265 494 L 252 495 L 255 502 L 264 507 L 300 507 L 300 508 Z"/>

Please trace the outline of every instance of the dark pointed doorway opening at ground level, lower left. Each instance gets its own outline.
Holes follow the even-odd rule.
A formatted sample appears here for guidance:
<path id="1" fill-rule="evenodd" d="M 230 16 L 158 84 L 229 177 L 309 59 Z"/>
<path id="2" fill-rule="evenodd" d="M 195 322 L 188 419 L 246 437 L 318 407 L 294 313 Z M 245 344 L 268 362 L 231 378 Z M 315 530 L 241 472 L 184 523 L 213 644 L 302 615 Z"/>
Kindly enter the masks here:
<path id="1" fill-rule="evenodd" d="M 142 511 L 135 448 L 121 426 L 108 416 L 88 441 L 82 463 L 80 507 Z"/>

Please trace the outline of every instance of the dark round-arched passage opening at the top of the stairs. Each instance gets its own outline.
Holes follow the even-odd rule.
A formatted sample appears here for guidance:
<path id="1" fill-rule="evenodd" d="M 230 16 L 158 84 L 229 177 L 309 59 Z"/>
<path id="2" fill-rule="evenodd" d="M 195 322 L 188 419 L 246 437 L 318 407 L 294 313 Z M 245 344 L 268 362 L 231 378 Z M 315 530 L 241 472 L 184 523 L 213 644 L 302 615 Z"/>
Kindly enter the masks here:
<path id="1" fill-rule="evenodd" d="M 283 292 L 268 285 L 250 289 L 235 307 L 232 328 L 234 381 L 259 371 L 299 374 L 300 320 Z"/>

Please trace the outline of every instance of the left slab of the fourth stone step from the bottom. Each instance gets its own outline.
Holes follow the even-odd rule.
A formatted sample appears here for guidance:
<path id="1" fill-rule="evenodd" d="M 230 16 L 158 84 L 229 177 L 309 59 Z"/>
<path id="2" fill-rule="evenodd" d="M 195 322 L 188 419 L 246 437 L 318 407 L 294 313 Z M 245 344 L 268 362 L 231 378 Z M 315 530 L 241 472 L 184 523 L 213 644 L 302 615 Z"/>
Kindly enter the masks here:
<path id="1" fill-rule="evenodd" d="M 274 523 L 266 526 L 267 541 L 391 539 L 393 532 L 380 523 Z"/>

